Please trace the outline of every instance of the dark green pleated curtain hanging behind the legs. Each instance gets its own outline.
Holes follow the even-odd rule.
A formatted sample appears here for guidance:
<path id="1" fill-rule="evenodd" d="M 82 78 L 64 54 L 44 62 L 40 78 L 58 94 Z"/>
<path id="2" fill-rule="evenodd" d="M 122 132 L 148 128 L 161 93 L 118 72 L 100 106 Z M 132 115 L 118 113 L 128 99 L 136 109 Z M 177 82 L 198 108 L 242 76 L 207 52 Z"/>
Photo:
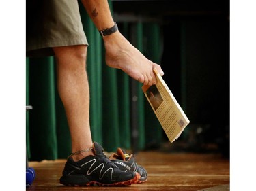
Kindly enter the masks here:
<path id="1" fill-rule="evenodd" d="M 112 9 L 111 1 L 109 1 Z M 131 149 L 132 131 L 132 80 L 124 72 L 107 67 L 104 63 L 102 38 L 81 3 L 81 18 L 89 48 L 87 73 L 90 86 L 91 134 L 108 152 L 117 147 Z M 130 39 L 134 26 L 134 46 L 156 63 L 160 63 L 160 26 L 155 23 L 120 23 L 122 33 Z M 146 30 L 143 30 L 143 29 Z M 152 31 L 150 34 L 145 31 Z M 147 39 L 147 43 L 145 43 Z M 27 100 L 33 107 L 27 111 L 27 154 L 29 160 L 55 160 L 66 158 L 71 151 L 71 139 L 63 105 L 57 93 L 55 58 L 27 58 Z M 132 82 L 137 88 L 137 148 L 160 144 L 162 128 L 154 112 L 144 99 L 142 84 Z"/>

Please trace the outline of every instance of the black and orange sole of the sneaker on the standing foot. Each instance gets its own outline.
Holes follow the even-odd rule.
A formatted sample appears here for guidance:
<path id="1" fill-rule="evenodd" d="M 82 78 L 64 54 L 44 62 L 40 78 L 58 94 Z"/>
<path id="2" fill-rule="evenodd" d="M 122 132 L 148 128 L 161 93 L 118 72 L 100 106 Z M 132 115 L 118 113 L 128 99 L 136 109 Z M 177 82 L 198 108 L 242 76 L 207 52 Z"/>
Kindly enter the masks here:
<path id="1" fill-rule="evenodd" d="M 131 184 L 137 184 L 137 181 L 139 180 L 140 175 L 139 173 L 136 173 L 136 176 L 133 179 L 127 180 L 127 181 L 120 181 L 112 184 L 104 184 L 100 183 L 98 181 L 89 181 L 84 175 L 72 175 L 69 177 L 61 177 L 60 183 L 65 186 L 129 186 Z M 71 181 L 72 182 L 69 182 Z M 75 181 L 75 182 L 74 182 Z"/>

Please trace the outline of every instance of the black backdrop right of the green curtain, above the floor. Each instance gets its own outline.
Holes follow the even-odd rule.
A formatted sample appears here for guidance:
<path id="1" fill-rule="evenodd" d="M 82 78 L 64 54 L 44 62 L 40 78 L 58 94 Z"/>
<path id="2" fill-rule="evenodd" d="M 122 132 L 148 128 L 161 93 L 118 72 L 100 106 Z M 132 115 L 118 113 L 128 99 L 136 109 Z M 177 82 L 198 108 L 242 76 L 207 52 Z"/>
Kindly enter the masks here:
<path id="1" fill-rule="evenodd" d="M 229 157 L 229 1 L 113 1 L 113 10 L 120 21 L 161 26 L 163 78 L 190 119 L 162 150 Z"/>

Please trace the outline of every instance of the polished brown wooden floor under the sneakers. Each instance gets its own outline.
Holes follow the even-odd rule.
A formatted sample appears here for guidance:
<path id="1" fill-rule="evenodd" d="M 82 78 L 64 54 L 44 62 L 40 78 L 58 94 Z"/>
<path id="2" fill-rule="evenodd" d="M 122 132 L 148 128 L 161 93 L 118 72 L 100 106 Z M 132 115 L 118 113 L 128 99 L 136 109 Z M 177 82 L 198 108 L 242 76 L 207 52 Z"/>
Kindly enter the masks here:
<path id="1" fill-rule="evenodd" d="M 143 184 L 124 187 L 68 187 L 59 184 L 66 160 L 29 162 L 36 177 L 29 190 L 229 190 L 229 160 L 219 154 L 139 152 L 137 163 L 147 169 Z"/>

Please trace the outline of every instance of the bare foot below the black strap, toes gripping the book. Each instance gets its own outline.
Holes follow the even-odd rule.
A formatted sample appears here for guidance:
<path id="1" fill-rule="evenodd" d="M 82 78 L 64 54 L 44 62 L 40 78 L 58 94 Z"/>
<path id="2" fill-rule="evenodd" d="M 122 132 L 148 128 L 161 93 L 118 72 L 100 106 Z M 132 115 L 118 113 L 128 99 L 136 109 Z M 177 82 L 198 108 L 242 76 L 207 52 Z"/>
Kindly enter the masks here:
<path id="1" fill-rule="evenodd" d="M 164 75 L 160 65 L 148 60 L 119 31 L 103 39 L 106 48 L 106 65 L 109 67 L 122 69 L 134 80 L 150 86 L 156 84 L 154 68 L 160 75 Z"/>

